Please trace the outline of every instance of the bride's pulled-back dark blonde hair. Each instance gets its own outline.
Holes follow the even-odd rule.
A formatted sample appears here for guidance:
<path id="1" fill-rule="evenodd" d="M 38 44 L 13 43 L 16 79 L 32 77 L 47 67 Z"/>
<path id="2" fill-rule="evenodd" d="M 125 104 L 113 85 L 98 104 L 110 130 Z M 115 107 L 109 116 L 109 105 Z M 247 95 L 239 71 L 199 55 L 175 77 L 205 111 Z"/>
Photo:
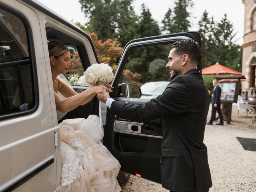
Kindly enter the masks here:
<path id="1" fill-rule="evenodd" d="M 54 56 L 54 58 L 58 59 L 58 57 L 64 55 L 66 52 L 70 52 L 68 48 L 59 42 L 48 42 L 48 50 L 49 56 Z"/>

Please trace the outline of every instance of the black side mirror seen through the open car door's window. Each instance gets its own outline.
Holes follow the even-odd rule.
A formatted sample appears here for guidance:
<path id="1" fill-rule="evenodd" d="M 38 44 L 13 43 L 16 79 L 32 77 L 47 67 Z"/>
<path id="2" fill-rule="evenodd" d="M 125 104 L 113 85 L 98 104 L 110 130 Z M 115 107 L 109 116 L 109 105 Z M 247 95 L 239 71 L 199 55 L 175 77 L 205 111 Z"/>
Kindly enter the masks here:
<path id="1" fill-rule="evenodd" d="M 118 96 L 129 98 L 140 98 L 141 90 L 138 85 L 131 83 L 122 83 L 118 85 Z"/>

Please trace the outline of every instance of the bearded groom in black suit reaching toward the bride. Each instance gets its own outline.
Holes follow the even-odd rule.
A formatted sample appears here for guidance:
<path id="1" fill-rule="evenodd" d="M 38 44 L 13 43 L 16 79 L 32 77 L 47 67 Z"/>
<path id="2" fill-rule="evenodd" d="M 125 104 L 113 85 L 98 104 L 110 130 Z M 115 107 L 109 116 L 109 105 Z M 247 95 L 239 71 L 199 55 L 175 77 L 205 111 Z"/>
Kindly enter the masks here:
<path id="1" fill-rule="evenodd" d="M 170 84 L 141 106 L 115 101 L 106 90 L 97 95 L 112 115 L 137 122 L 161 118 L 161 180 L 171 192 L 208 192 L 212 186 L 203 143 L 209 95 L 196 69 L 201 58 L 200 45 L 194 40 L 174 42 L 166 64 Z"/>

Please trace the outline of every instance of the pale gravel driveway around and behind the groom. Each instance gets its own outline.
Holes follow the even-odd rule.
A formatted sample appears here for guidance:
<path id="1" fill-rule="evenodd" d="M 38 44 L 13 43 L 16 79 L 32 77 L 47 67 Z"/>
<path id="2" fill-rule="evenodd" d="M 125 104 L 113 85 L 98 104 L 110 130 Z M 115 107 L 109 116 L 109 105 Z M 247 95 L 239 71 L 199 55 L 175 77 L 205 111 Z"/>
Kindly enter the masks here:
<path id="1" fill-rule="evenodd" d="M 208 112 L 210 119 L 211 109 Z M 252 114 L 232 111 L 232 122 L 224 126 L 206 125 L 204 143 L 212 175 L 209 192 L 256 192 L 256 151 L 244 150 L 236 137 L 256 138 Z M 161 184 L 136 176 L 122 186 L 122 192 L 168 192 Z"/>

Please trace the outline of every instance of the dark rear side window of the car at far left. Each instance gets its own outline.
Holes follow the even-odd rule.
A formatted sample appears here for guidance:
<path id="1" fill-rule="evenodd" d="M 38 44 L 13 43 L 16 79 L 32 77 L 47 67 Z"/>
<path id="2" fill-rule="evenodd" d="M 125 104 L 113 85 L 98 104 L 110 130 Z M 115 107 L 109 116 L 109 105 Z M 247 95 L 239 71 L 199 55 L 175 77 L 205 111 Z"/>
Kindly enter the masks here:
<path id="1" fill-rule="evenodd" d="M 0 8 L 0 115 L 34 107 L 32 60 L 26 26 Z"/>

